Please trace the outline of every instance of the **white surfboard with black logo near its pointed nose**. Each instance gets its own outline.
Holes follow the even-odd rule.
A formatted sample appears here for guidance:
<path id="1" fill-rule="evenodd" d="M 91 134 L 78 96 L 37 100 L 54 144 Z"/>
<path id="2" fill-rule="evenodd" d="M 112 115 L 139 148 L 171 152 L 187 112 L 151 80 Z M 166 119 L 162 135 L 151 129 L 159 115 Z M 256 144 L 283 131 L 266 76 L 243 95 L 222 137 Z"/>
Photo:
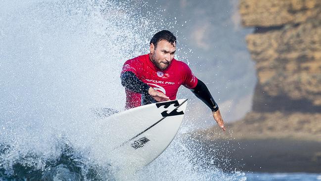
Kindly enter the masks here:
<path id="1" fill-rule="evenodd" d="M 112 165 L 133 171 L 156 159 L 176 136 L 186 105 L 187 99 L 158 102 L 102 120 L 108 124 Z"/>

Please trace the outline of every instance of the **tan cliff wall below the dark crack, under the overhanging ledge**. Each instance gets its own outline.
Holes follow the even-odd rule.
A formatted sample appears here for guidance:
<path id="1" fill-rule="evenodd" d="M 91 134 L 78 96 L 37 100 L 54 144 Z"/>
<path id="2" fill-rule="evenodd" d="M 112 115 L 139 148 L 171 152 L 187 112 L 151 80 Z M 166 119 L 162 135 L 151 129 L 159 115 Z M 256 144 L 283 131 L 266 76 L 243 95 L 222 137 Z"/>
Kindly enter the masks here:
<path id="1" fill-rule="evenodd" d="M 301 102 L 304 110 L 321 110 L 321 18 L 252 34 L 246 40 L 257 62 L 259 92 L 255 96 L 260 98 L 264 92 L 264 99 L 275 99 L 275 109 L 298 111 L 302 105 L 296 104 Z M 289 103 L 295 104 L 289 107 Z M 253 108 L 264 110 L 258 104 L 254 101 Z"/>

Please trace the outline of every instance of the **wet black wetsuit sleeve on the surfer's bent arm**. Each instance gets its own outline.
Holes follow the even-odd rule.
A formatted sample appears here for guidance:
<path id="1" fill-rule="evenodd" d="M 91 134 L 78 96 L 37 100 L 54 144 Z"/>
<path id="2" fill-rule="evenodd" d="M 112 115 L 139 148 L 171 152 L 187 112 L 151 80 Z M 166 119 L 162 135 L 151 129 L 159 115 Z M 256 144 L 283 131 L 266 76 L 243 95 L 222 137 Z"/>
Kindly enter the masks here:
<path id="1" fill-rule="evenodd" d="M 120 75 L 122 86 L 137 93 L 147 93 L 149 86 L 138 79 L 131 71 L 126 71 Z"/>

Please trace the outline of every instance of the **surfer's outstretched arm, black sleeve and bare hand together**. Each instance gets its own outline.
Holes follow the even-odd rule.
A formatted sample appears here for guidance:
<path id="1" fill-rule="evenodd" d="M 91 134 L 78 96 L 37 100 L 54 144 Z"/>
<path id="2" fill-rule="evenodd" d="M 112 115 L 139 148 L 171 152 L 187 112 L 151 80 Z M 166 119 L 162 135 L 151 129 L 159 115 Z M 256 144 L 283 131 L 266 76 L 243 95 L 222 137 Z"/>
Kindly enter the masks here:
<path id="1" fill-rule="evenodd" d="M 197 85 L 193 89 L 191 89 L 191 91 L 196 95 L 197 98 L 201 99 L 212 110 L 215 121 L 219 124 L 223 131 L 226 131 L 219 106 L 215 102 L 206 85 L 202 81 L 197 79 Z"/>

